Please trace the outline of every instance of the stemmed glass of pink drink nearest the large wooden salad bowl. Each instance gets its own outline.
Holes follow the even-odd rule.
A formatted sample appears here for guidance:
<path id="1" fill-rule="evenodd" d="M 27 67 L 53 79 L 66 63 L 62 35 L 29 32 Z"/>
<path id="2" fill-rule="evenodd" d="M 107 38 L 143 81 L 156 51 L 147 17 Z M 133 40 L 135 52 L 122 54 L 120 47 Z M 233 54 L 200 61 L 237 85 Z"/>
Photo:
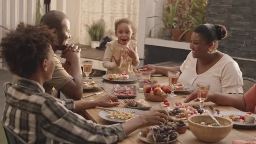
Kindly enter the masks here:
<path id="1" fill-rule="evenodd" d="M 208 97 L 209 83 L 197 83 L 197 98 L 200 100 L 200 109 L 203 109 L 203 102 Z M 203 109 L 205 111 L 205 109 Z"/>

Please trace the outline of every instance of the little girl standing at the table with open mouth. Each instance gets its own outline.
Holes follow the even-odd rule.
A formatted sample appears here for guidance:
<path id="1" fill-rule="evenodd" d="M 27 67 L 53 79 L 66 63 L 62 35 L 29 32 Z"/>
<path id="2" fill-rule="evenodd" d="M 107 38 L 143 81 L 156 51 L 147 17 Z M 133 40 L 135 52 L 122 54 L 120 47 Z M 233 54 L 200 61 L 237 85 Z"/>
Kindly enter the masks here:
<path id="1" fill-rule="evenodd" d="M 131 40 L 134 36 L 133 23 L 129 19 L 115 21 L 115 35 L 117 40 L 106 44 L 103 59 L 103 67 L 107 69 L 106 74 L 137 75 L 138 71 L 133 68 L 139 65 L 137 53 L 137 42 Z"/>

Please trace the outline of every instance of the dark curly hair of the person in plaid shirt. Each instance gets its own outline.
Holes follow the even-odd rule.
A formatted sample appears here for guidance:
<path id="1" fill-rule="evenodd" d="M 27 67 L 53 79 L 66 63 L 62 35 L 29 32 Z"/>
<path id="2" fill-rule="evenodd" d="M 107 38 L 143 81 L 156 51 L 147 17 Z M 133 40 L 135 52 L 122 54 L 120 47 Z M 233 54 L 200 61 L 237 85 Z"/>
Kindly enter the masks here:
<path id="1" fill-rule="evenodd" d="M 2 38 L 0 53 L 13 74 L 30 78 L 47 59 L 51 45 L 57 45 L 56 35 L 47 26 L 20 23 Z"/>

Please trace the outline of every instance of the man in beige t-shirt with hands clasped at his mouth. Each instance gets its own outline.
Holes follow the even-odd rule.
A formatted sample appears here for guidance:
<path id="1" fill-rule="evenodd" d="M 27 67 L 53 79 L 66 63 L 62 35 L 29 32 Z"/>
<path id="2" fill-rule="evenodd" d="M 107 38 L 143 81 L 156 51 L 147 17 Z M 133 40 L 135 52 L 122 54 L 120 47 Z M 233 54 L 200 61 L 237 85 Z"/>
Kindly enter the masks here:
<path id="1" fill-rule="evenodd" d="M 61 57 L 66 59 L 62 66 L 58 56 L 54 54 L 55 69 L 52 79 L 43 85 L 45 91 L 55 95 L 54 89 L 61 91 L 69 99 L 81 99 L 83 94 L 83 73 L 80 65 L 80 51 L 77 45 L 68 45 L 70 35 L 70 22 L 66 14 L 60 11 L 45 13 L 40 21 L 53 31 L 57 36 L 58 45 L 52 45 L 54 53 L 62 51 Z M 17 76 L 13 78 L 13 85 L 17 82 Z"/>

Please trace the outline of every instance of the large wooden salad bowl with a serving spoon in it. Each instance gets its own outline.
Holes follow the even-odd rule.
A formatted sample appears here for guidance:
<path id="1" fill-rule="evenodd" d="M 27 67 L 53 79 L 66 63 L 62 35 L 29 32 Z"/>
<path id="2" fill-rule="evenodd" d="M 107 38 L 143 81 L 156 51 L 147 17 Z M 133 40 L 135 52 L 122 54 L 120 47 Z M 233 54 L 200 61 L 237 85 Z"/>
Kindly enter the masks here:
<path id="1" fill-rule="evenodd" d="M 217 142 L 224 139 L 232 130 L 233 122 L 224 117 L 216 117 L 218 125 L 209 115 L 194 115 L 188 118 L 190 131 L 205 142 Z"/>

